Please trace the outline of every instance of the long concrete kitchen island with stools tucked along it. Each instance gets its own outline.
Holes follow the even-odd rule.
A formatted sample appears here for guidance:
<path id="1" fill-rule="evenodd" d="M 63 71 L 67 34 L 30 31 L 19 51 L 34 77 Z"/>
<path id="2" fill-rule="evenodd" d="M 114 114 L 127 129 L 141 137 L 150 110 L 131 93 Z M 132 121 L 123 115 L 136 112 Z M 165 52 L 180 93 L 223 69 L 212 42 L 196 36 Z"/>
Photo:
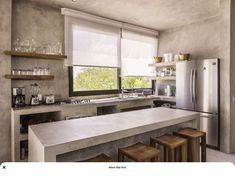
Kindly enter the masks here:
<path id="1" fill-rule="evenodd" d="M 150 137 L 180 127 L 199 129 L 199 122 L 196 112 L 152 108 L 33 125 L 29 127 L 29 161 L 55 162 L 63 161 L 63 158 L 74 161 L 101 151 L 115 150 L 117 153 L 118 147 L 146 143 Z M 79 150 L 84 151 L 77 155 Z"/>

